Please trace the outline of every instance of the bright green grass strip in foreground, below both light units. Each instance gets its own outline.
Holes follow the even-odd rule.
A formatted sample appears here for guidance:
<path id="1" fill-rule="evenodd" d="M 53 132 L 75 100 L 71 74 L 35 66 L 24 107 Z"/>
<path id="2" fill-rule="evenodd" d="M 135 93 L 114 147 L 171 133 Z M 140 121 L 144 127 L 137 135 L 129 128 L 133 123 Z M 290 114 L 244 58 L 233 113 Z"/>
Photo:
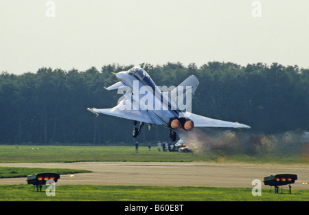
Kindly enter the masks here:
<path id="1" fill-rule="evenodd" d="M 279 194 L 262 190 L 253 196 L 250 188 L 56 185 L 56 195 L 36 192 L 33 185 L 0 185 L 0 201 L 308 201 L 308 190 L 281 189 Z"/>

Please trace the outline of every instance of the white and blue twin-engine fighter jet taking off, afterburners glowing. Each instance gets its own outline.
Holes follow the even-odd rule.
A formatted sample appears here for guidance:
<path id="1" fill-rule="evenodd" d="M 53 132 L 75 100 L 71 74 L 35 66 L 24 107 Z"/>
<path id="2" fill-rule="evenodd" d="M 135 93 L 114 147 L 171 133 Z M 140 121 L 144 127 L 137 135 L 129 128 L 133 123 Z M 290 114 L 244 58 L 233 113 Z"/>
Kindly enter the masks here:
<path id="1" fill-rule="evenodd" d="M 170 130 L 172 142 L 176 140 L 176 130 L 192 131 L 194 127 L 250 128 L 238 122 L 215 120 L 191 112 L 191 100 L 198 87 L 196 76 L 189 76 L 178 87 L 158 87 L 144 69 L 133 67 L 128 71 L 115 73 L 119 82 L 107 87 L 124 94 L 117 106 L 111 109 L 88 108 L 95 115 L 113 115 L 133 120 L 139 126 L 133 129 L 133 137 L 141 133 L 144 123 L 150 129 L 153 125 Z M 165 90 L 162 90 L 165 89 Z"/>

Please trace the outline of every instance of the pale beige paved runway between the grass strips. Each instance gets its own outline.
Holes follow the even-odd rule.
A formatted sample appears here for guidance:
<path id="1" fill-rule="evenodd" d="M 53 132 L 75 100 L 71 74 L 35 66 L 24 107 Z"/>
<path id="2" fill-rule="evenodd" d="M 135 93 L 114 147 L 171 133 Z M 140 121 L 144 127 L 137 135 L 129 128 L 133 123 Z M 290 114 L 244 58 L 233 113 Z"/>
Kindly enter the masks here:
<path id="1" fill-rule="evenodd" d="M 57 185 L 161 185 L 253 188 L 271 174 L 297 174 L 293 189 L 309 189 L 308 165 L 205 162 L 76 162 L 76 163 L 0 163 L 0 166 L 27 168 L 71 168 L 90 173 L 62 174 Z M 36 172 L 34 172 L 36 173 Z M 24 178 L 0 179 L 0 184 L 27 183 Z M 288 188 L 288 186 L 284 186 Z"/>

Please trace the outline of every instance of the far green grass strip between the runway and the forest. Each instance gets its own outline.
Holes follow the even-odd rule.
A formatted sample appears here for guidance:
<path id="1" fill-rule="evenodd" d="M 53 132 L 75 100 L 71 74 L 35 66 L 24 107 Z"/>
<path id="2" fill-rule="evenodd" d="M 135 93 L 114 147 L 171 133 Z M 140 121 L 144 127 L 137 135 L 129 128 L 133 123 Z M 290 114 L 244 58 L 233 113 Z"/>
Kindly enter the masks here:
<path id="1" fill-rule="evenodd" d="M 236 161 L 251 163 L 309 163 L 299 155 L 206 155 L 180 152 L 158 152 L 140 146 L 16 146 L 0 145 L 0 162 L 75 162 L 75 161 Z"/>

